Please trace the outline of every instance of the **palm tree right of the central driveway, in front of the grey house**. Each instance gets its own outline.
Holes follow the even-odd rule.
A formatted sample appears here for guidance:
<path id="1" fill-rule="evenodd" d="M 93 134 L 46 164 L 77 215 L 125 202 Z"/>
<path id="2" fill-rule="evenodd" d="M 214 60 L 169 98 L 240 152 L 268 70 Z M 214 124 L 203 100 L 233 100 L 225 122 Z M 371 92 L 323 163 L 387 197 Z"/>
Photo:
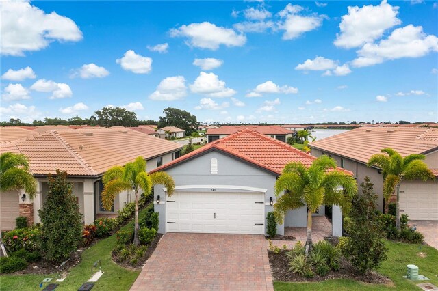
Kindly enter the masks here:
<path id="1" fill-rule="evenodd" d="M 337 170 L 333 158 L 322 155 L 309 168 L 300 162 L 288 163 L 275 182 L 274 193 L 274 217 L 278 223 L 283 223 L 288 210 L 307 206 L 308 253 L 312 245 L 312 214 L 322 205 L 339 205 L 348 212 L 357 183 L 346 172 Z"/>

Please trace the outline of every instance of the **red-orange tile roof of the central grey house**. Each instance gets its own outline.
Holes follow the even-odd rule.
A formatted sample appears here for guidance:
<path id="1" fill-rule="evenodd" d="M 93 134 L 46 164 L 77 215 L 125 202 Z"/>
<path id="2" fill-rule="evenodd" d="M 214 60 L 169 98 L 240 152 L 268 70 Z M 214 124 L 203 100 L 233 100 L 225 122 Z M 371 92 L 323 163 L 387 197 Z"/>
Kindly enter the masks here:
<path id="1" fill-rule="evenodd" d="M 176 160 L 163 165 L 151 172 L 162 171 L 172 165 L 176 165 L 190 158 L 194 158 L 203 152 L 211 149 L 217 149 L 222 152 L 227 152 L 237 158 L 242 158 L 245 161 L 253 163 L 259 167 L 281 174 L 285 165 L 289 162 L 301 162 L 307 167 L 315 161 L 314 156 L 305 154 L 300 150 L 289 146 L 279 140 L 272 139 L 254 130 L 245 128 L 237 133 L 233 133 L 217 141 L 207 143 L 207 145 L 194 150 L 189 154 L 185 154 Z M 341 169 L 341 168 L 339 168 Z M 344 170 L 344 169 L 342 169 Z M 346 170 L 344 170 L 346 171 Z M 350 171 L 346 171 L 352 174 Z"/>

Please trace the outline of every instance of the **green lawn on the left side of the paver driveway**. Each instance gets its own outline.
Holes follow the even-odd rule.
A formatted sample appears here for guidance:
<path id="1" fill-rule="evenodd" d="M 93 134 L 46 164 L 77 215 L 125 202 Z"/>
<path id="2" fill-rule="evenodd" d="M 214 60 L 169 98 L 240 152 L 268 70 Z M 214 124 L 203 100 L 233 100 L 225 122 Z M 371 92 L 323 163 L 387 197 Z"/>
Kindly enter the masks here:
<path id="1" fill-rule="evenodd" d="M 140 211 L 140 219 L 146 214 L 146 208 Z M 132 225 L 133 222 L 130 224 Z M 126 229 L 125 225 L 122 229 Z M 46 277 L 53 278 L 50 283 L 60 284 L 56 290 L 77 290 L 91 277 L 91 266 L 96 260 L 101 260 L 101 279 L 96 282 L 92 290 L 129 290 L 138 277 L 140 271 L 127 270 L 112 261 L 111 252 L 116 245 L 116 236 L 100 240 L 82 253 L 82 261 L 73 267 L 64 282 L 55 282 L 57 274 L 52 275 L 1 275 L 0 290 L 40 290 L 40 283 Z M 47 286 L 49 283 L 44 283 Z"/>

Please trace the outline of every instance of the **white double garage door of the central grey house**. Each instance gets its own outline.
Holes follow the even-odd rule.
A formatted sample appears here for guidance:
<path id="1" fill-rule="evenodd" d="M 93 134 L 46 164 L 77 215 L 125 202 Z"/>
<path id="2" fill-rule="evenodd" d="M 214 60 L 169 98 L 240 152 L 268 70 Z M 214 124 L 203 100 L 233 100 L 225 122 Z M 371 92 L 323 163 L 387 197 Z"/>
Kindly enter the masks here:
<path id="1" fill-rule="evenodd" d="M 166 217 L 168 232 L 264 234 L 264 194 L 176 192 Z"/>

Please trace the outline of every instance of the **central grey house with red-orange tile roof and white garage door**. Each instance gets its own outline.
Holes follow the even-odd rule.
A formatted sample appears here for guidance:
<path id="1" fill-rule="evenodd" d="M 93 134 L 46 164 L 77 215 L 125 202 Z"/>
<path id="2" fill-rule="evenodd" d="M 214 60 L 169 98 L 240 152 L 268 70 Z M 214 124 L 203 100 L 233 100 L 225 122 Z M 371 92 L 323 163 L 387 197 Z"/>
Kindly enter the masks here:
<path id="1" fill-rule="evenodd" d="M 244 129 L 207 143 L 154 171 L 175 180 L 175 193 L 154 187 L 159 232 L 265 234 L 266 214 L 276 202 L 274 184 L 289 162 L 311 165 L 315 157 L 287 143 Z M 318 214 L 324 215 L 324 206 Z M 342 234 L 342 212 L 333 206 L 333 235 Z M 306 227 L 307 208 L 289 210 L 284 227 Z"/>

